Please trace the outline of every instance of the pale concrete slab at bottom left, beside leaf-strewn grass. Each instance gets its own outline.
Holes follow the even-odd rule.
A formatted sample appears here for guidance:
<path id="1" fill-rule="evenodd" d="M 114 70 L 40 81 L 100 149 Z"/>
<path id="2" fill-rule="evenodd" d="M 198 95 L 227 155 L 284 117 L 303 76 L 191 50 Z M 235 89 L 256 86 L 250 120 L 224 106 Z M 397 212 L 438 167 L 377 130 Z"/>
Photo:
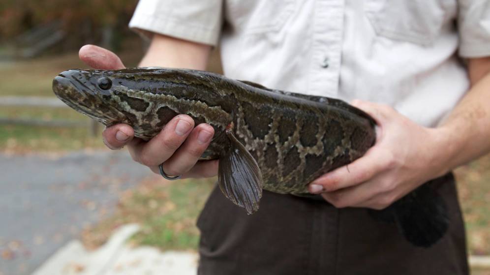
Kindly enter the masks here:
<path id="1" fill-rule="evenodd" d="M 87 251 L 79 241 L 71 241 L 56 252 L 33 275 L 195 275 L 195 252 L 161 252 L 149 246 L 131 247 L 128 238 L 139 230 L 136 224 L 118 229 L 95 251 Z"/>

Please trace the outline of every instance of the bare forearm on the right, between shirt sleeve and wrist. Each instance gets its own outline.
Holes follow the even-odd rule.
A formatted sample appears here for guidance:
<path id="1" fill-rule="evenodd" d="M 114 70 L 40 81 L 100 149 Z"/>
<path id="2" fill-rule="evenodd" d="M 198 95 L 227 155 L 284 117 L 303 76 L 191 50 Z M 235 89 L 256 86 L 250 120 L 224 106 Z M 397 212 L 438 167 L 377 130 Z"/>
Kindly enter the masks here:
<path id="1" fill-rule="evenodd" d="M 468 66 L 470 90 L 434 129 L 443 172 L 490 152 L 490 58 L 472 60 Z"/>

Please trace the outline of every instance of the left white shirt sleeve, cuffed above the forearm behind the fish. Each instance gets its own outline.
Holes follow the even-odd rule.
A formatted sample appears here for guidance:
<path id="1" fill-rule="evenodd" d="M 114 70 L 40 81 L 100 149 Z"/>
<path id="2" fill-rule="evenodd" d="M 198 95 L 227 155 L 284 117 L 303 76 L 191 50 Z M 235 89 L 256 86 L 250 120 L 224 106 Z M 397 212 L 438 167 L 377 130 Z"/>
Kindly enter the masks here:
<path id="1" fill-rule="evenodd" d="M 222 27 L 223 0 L 140 0 L 129 28 L 215 46 Z"/>

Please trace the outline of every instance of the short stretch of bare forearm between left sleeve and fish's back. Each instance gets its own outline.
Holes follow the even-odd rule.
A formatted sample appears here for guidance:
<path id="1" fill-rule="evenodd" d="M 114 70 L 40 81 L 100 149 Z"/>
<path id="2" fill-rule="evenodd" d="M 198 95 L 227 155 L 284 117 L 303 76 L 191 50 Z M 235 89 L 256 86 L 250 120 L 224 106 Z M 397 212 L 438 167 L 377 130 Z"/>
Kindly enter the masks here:
<path id="1" fill-rule="evenodd" d="M 204 70 L 211 46 L 165 35 L 154 34 L 147 53 L 139 66 L 173 67 Z"/>

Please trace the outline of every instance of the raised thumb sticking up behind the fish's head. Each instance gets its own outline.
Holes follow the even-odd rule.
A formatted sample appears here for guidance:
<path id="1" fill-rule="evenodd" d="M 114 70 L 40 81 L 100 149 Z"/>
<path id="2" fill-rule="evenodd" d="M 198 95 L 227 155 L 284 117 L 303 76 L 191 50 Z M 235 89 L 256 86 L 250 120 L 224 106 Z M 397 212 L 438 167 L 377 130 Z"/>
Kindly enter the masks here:
<path id="1" fill-rule="evenodd" d="M 78 57 L 94 69 L 118 70 L 124 68 L 124 64 L 115 53 L 95 45 L 85 45 L 80 48 Z"/>

